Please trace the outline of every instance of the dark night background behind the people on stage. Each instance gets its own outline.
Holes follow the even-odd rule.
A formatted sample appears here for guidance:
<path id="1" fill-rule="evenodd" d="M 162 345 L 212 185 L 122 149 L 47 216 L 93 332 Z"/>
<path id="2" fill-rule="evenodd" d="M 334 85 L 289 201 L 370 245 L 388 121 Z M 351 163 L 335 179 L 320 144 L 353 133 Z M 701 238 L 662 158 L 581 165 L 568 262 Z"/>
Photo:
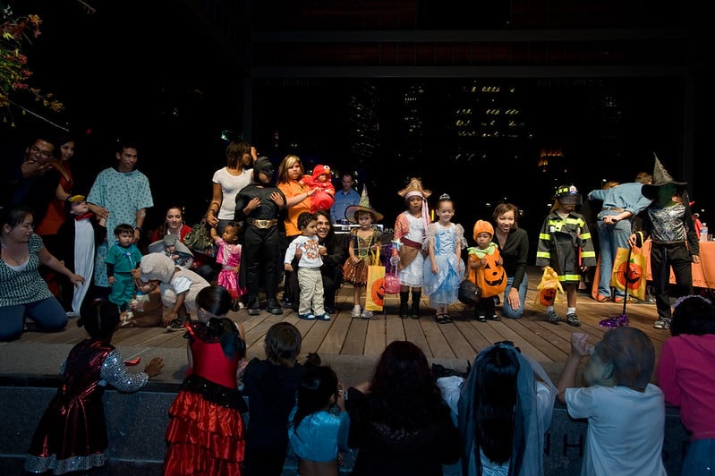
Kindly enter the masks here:
<path id="1" fill-rule="evenodd" d="M 78 182 L 75 191 L 89 191 L 98 171 L 115 162 L 115 137 L 130 134 L 140 139 L 138 168 L 149 176 L 154 190 L 149 223 L 158 225 L 171 203 L 186 207 L 189 222 L 200 219 L 210 198 L 211 176 L 226 165 L 222 132 L 244 134 L 245 64 L 240 51 L 227 49 L 215 32 L 197 21 L 192 2 L 89 1 L 95 13 L 72 0 L 9 4 L 16 15 L 36 13 L 43 20 L 42 35 L 25 48 L 35 72 L 32 84 L 55 94 L 64 111 L 53 114 L 18 102 L 80 134 L 71 163 Z M 281 2 L 274 4 L 279 7 Z M 435 15 L 433 21 L 439 21 Z M 246 20 L 236 13 L 230 21 Z M 442 21 L 449 21 L 446 15 Z M 238 30 L 243 34 L 243 28 Z M 711 71 L 709 64 L 705 68 Z M 372 205 L 385 213 L 386 226 L 403 209 L 396 191 L 416 175 L 435 196 L 448 192 L 455 198 L 454 221 L 466 229 L 476 219 L 490 217 L 498 201 L 508 200 L 523 208 L 523 225 L 534 234 L 559 183 L 575 183 L 585 194 L 602 181 L 628 182 L 637 172 L 651 171 L 653 153 L 676 179 L 681 178 L 681 81 L 658 76 L 257 78 L 252 133 L 246 139 L 276 164 L 288 152 L 296 152 L 309 167 L 324 163 L 336 171 L 356 171 L 358 190 L 368 184 Z M 404 91 L 415 84 L 424 89 L 417 157 L 405 150 L 400 114 Z M 455 142 L 449 114 L 464 98 L 460 91 L 473 84 L 515 90 L 508 101 L 523 113 L 518 140 L 478 140 L 469 147 Z M 347 120 L 351 98 L 366 88 L 374 95 L 377 116 L 369 159 L 350 148 Z M 712 194 L 710 179 L 700 167 L 709 152 L 704 138 L 711 93 L 704 99 L 695 112 L 694 180 L 689 191 L 707 220 Z M 16 125 L 0 125 L 0 134 L 3 142 L 20 144 L 41 122 L 17 109 L 11 112 Z M 544 148 L 560 149 L 564 156 L 552 161 L 547 172 L 537 164 Z M 335 183 L 339 187 L 339 181 Z"/>

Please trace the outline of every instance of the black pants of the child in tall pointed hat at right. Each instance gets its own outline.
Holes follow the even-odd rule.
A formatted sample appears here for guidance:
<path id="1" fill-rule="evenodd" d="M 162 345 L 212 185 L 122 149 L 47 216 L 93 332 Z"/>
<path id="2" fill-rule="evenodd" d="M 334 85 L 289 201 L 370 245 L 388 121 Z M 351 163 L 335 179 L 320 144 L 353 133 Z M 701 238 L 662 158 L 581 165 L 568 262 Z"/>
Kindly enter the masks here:
<path id="1" fill-rule="evenodd" d="M 693 293 L 693 259 L 685 242 L 661 244 L 651 247 L 651 277 L 655 287 L 655 304 L 659 319 L 670 319 L 670 268 L 676 276 L 678 295 Z"/>

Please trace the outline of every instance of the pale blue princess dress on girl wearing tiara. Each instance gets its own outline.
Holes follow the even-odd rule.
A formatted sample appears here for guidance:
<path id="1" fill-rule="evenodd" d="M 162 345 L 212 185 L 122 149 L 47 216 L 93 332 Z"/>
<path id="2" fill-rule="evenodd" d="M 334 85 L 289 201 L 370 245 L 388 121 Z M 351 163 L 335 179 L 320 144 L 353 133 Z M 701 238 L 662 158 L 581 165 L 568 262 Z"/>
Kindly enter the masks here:
<path id="1" fill-rule="evenodd" d="M 450 223 L 448 226 L 433 223 L 427 228 L 427 241 L 432 243 L 437 261 L 437 274 L 432 273 L 430 259 L 424 259 L 424 293 L 430 296 L 430 306 L 457 302 L 459 284 L 464 279 L 464 262 L 457 259 L 457 247 L 466 248 L 464 228 Z"/>

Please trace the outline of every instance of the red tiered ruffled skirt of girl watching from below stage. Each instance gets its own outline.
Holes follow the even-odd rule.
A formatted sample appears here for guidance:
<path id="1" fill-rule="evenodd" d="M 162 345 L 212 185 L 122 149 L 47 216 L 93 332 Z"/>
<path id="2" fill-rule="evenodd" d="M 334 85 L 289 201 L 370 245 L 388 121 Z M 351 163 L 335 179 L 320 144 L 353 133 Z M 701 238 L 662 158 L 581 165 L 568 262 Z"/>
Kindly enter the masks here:
<path id="1" fill-rule="evenodd" d="M 169 408 L 164 474 L 243 474 L 245 429 L 241 412 L 189 390 Z"/>

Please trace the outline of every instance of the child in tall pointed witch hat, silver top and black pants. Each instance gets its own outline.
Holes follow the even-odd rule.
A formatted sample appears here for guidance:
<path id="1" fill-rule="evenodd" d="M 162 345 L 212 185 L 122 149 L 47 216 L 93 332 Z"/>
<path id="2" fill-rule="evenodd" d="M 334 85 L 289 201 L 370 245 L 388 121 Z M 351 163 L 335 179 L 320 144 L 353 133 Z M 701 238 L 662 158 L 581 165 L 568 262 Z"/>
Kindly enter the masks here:
<path id="1" fill-rule="evenodd" d="M 653 200 L 643 212 L 643 239 L 651 238 L 651 276 L 655 287 L 657 329 L 670 328 L 670 268 L 681 295 L 693 294 L 692 263 L 700 263 L 700 243 L 695 234 L 685 182 L 675 182 L 655 157 L 653 183 L 643 185 L 643 197 Z M 641 246 L 640 234 L 631 234 L 631 246 Z"/>

